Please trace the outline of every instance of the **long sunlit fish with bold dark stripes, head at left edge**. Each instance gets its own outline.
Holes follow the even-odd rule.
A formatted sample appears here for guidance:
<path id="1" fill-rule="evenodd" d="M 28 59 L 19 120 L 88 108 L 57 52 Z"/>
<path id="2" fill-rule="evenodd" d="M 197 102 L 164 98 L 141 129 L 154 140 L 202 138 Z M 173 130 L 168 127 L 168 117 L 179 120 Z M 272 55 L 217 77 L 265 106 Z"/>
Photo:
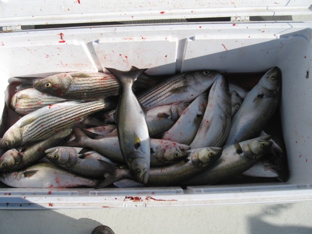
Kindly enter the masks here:
<path id="1" fill-rule="evenodd" d="M 66 101 L 42 107 L 13 124 L 3 135 L 0 146 L 12 148 L 46 139 L 109 106 L 109 102 L 100 99 L 83 103 Z"/>

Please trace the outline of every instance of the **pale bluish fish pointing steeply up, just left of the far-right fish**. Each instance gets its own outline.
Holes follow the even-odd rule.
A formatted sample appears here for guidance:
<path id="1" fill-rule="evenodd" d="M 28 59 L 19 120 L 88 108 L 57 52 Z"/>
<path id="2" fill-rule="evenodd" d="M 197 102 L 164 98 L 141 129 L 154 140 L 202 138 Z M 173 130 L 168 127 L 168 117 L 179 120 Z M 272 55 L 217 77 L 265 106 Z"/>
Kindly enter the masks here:
<path id="1" fill-rule="evenodd" d="M 219 76 L 210 89 L 207 108 L 191 148 L 223 146 L 230 132 L 231 119 L 231 96 L 225 78 Z"/>

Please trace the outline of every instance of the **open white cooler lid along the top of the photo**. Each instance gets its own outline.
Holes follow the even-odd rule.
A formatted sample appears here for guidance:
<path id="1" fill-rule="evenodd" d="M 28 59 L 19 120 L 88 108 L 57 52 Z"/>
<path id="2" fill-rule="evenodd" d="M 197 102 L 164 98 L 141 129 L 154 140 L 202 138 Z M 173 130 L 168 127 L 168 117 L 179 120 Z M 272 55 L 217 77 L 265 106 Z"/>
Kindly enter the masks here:
<path id="1" fill-rule="evenodd" d="M 0 0 L 0 26 L 309 15 L 310 0 Z"/>

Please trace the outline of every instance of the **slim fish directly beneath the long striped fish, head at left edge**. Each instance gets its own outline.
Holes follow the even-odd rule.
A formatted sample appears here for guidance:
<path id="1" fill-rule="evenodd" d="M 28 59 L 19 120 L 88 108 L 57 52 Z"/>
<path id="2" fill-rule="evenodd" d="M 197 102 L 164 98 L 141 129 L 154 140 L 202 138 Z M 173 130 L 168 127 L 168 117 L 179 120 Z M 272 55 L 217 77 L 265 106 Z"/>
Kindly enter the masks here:
<path id="1" fill-rule="evenodd" d="M 45 154 L 44 151 L 55 146 L 71 134 L 71 129 L 65 129 L 39 143 L 30 145 L 26 149 L 10 149 L 0 157 L 0 171 L 12 172 L 26 168 L 37 162 Z"/>

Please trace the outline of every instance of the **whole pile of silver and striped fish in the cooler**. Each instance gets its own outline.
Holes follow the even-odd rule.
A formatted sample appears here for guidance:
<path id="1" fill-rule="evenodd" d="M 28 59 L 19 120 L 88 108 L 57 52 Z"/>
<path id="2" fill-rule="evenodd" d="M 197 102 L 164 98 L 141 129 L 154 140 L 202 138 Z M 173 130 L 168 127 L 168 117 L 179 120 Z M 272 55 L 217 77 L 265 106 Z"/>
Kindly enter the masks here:
<path id="1" fill-rule="evenodd" d="M 274 130 L 277 67 L 250 91 L 210 70 L 164 79 L 135 67 L 107 70 L 19 79 L 0 127 L 2 183 L 102 188 L 288 179 L 281 129 Z M 12 110 L 20 117 L 10 124 Z"/>

